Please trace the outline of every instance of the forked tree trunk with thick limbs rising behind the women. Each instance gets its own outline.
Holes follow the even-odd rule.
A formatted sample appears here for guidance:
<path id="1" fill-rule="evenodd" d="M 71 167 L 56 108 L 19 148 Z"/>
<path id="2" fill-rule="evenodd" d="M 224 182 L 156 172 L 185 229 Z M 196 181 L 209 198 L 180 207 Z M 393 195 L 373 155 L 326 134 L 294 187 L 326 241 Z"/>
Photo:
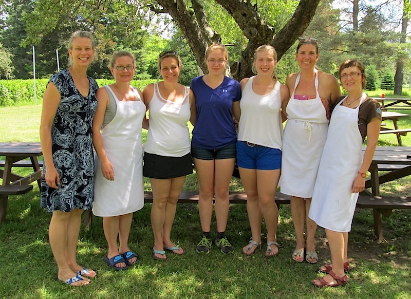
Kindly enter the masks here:
<path id="1" fill-rule="evenodd" d="M 184 0 L 156 0 L 156 2 L 171 15 L 187 39 L 198 65 L 204 72 L 207 72 L 204 52 L 208 44 L 218 40 L 219 36 L 209 28 L 200 2 L 193 1 L 193 10 L 201 10 L 200 12 L 196 11 L 195 15 L 186 7 Z M 253 55 L 259 46 L 272 45 L 277 50 L 278 60 L 283 56 L 310 24 L 320 0 L 301 0 L 291 19 L 275 37 L 273 28 L 261 18 L 249 1 L 215 0 L 215 2 L 229 12 L 248 39 L 247 47 L 242 51 L 240 61 L 231 67 L 234 79 L 240 81 L 242 78 L 253 75 L 251 71 Z M 210 36 L 210 34 L 214 34 L 214 36 Z"/>

